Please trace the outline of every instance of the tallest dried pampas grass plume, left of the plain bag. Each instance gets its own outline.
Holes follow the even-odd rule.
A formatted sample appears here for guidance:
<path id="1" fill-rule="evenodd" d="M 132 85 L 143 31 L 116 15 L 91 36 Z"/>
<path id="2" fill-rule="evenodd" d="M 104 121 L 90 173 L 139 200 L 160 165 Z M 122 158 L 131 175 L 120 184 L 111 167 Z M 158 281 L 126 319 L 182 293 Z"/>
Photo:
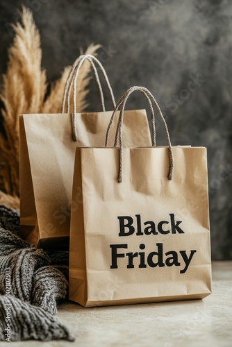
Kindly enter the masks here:
<path id="1" fill-rule="evenodd" d="M 19 115 L 41 112 L 47 89 L 46 74 L 41 69 L 40 34 L 29 10 L 22 10 L 22 24 L 17 23 L 13 46 L 9 49 L 6 74 L 3 75 L 1 110 L 6 137 L 0 136 L 1 160 L 9 167 L 6 192 L 19 196 Z"/>

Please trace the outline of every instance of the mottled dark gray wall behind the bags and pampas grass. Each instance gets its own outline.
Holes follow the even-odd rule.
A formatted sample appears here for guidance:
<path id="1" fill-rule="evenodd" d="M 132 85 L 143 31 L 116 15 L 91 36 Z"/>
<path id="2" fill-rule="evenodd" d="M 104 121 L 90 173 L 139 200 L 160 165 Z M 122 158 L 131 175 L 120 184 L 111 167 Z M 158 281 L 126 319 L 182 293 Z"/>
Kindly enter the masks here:
<path id="1" fill-rule="evenodd" d="M 40 28 L 49 81 L 79 47 L 100 43 L 117 99 L 131 85 L 148 87 L 172 143 L 208 147 L 213 258 L 232 259 L 232 1 L 1 0 L 1 73 L 12 42 L 6 23 L 15 22 L 22 3 Z M 94 83 L 90 101 L 90 110 L 100 108 Z M 128 108 L 144 105 L 134 94 Z M 165 144 L 161 127 L 158 140 Z"/>

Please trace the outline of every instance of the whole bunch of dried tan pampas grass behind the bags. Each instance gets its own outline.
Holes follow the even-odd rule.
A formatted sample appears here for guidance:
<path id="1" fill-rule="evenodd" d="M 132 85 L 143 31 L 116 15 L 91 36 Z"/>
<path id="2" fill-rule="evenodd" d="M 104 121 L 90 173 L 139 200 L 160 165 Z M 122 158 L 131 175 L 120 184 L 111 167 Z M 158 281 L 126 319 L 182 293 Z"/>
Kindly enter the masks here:
<path id="1" fill-rule="evenodd" d="M 70 67 L 47 92 L 46 71 L 41 67 L 40 33 L 30 10 L 22 7 L 22 23 L 13 25 L 15 38 L 8 51 L 8 68 L 3 75 L 0 98 L 3 101 L 3 126 L 6 136 L 0 134 L 0 161 L 7 164 L 8 175 L 3 177 L 6 194 L 0 191 L 0 203 L 19 208 L 19 115 L 25 113 L 60 113 L 65 82 Z M 100 45 L 90 44 L 85 53 L 96 55 Z M 76 93 L 77 112 L 86 106 L 90 82 L 90 63 L 85 62 L 78 76 Z"/>

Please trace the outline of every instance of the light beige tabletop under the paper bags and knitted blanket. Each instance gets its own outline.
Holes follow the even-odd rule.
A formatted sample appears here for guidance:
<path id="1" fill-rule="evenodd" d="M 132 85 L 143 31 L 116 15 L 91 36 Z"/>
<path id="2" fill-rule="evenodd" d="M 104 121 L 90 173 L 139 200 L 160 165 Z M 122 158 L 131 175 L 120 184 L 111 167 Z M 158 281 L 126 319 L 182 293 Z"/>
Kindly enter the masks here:
<path id="1" fill-rule="evenodd" d="M 232 262 L 213 262 L 213 294 L 204 300 L 93 309 L 67 302 L 60 305 L 57 317 L 76 341 L 11 346 L 232 347 Z"/>

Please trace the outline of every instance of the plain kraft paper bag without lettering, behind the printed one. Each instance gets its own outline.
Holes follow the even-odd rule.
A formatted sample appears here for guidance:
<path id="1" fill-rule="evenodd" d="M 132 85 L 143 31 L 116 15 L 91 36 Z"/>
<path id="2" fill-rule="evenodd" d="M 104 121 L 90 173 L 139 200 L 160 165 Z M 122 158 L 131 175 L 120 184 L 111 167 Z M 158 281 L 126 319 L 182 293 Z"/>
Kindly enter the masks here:
<path id="1" fill-rule="evenodd" d="M 76 80 L 81 66 L 90 61 L 99 85 L 103 112 L 76 113 Z M 24 239 L 38 246 L 68 246 L 72 178 L 76 146 L 102 146 L 112 115 L 106 111 L 101 83 L 94 64 L 103 71 L 113 107 L 113 96 L 106 71 L 94 56 L 81 56 L 74 62 L 65 86 L 62 113 L 22 115 L 20 130 L 20 201 Z M 74 110 L 70 112 L 71 90 Z M 67 113 L 65 103 L 67 102 Z M 114 124 L 116 126 L 116 123 Z M 142 136 L 140 136 L 142 129 Z M 151 144 L 145 110 L 125 115 L 126 146 Z M 113 144 L 113 137 L 110 139 Z"/>

